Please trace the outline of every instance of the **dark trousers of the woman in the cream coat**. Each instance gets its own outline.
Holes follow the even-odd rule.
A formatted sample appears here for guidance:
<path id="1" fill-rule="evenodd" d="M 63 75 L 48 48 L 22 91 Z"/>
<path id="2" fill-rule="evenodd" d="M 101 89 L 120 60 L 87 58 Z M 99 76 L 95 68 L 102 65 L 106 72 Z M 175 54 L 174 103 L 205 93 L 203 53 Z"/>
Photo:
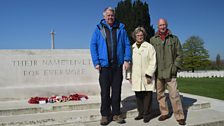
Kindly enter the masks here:
<path id="1" fill-rule="evenodd" d="M 152 106 L 152 91 L 135 92 L 139 115 L 148 116 Z"/>

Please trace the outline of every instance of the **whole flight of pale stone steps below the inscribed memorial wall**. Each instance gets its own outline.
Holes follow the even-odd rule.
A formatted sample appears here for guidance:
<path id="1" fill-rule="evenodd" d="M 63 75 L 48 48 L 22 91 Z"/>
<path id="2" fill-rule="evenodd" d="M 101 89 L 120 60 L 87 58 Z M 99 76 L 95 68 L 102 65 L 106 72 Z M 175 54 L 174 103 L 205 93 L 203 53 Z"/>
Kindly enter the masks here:
<path id="1" fill-rule="evenodd" d="M 197 112 L 211 108 L 210 102 L 205 102 L 206 100 L 183 95 L 181 98 L 185 112 Z M 101 118 L 99 108 L 100 96 L 89 96 L 89 99 L 84 101 L 51 104 L 29 104 L 27 100 L 5 101 L 0 102 L 0 126 L 72 126 L 74 124 L 76 126 L 97 126 Z M 122 116 L 127 120 L 133 120 L 137 116 L 133 94 L 122 95 L 121 111 Z M 153 93 L 152 115 L 154 117 L 159 115 L 155 93 Z"/>

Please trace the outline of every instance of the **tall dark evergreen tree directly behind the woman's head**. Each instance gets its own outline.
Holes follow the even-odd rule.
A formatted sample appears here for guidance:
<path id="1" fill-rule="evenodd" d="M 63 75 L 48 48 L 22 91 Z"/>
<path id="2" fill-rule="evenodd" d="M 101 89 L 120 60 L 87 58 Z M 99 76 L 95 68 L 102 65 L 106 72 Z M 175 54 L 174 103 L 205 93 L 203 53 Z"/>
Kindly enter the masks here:
<path id="1" fill-rule="evenodd" d="M 146 41 L 149 41 L 155 34 L 155 30 L 150 25 L 149 8 L 146 2 L 143 3 L 140 0 L 135 0 L 133 3 L 131 0 L 120 1 L 118 2 L 115 11 L 116 19 L 125 24 L 125 29 L 127 30 L 131 44 L 134 43 L 131 34 L 138 26 L 145 28 L 148 34 Z"/>

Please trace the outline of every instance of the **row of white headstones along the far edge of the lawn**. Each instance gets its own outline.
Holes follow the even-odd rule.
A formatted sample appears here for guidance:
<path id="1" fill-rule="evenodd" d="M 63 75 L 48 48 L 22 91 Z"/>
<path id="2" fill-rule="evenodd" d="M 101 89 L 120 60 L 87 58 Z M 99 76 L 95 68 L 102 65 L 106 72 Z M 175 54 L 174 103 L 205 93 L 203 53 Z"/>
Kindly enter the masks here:
<path id="1" fill-rule="evenodd" d="M 179 78 L 224 77 L 224 71 L 195 71 L 195 72 L 181 71 L 177 73 L 177 77 Z"/>

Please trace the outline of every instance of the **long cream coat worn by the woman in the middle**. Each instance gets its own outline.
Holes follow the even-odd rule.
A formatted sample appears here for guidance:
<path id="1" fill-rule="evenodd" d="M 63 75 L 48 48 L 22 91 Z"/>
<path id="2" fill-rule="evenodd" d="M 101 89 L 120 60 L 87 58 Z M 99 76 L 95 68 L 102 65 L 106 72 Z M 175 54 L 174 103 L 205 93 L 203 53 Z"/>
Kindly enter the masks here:
<path id="1" fill-rule="evenodd" d="M 156 52 L 148 42 L 143 42 L 138 48 L 136 43 L 132 46 L 132 90 L 153 91 L 155 89 L 154 72 L 156 70 Z M 145 75 L 152 77 L 152 83 L 147 84 Z"/>

